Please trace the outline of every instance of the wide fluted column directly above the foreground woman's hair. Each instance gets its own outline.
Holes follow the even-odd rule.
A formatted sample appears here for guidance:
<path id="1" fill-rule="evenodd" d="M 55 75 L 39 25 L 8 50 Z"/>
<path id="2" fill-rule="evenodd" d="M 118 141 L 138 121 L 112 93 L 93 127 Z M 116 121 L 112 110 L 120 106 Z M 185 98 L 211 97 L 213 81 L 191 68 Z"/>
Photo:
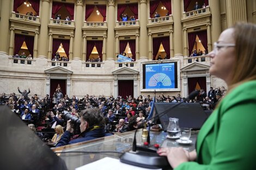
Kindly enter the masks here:
<path id="1" fill-rule="evenodd" d="M 228 27 L 236 22 L 247 22 L 246 0 L 226 0 L 226 9 Z"/>

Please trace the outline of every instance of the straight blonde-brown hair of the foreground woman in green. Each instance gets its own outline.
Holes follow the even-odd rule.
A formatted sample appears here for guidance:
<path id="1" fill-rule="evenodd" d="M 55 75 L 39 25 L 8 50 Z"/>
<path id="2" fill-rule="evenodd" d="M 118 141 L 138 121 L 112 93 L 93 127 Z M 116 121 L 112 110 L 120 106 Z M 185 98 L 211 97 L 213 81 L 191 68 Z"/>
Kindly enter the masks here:
<path id="1" fill-rule="evenodd" d="M 256 25 L 237 23 L 232 29 L 236 55 L 229 91 L 245 81 L 256 79 Z"/>

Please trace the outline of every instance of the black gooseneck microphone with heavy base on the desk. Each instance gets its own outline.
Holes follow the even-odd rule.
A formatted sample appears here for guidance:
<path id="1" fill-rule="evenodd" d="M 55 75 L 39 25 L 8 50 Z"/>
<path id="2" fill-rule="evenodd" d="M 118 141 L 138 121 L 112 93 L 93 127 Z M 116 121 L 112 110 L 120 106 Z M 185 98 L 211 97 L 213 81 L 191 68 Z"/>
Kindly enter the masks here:
<path id="1" fill-rule="evenodd" d="M 191 99 L 194 99 L 196 96 L 199 95 L 199 91 L 195 90 L 193 92 L 190 93 L 190 95 L 183 100 L 182 102 L 175 104 L 172 106 L 172 108 L 163 111 L 161 114 L 159 115 L 155 115 L 151 118 L 147 118 L 145 120 L 145 122 L 149 122 L 149 121 L 154 121 L 154 119 L 156 117 L 162 117 L 163 115 L 167 114 L 170 110 L 176 108 L 177 106 L 179 106 L 181 103 L 184 103 L 186 101 L 189 101 Z M 148 130 L 148 137 L 147 137 L 147 142 L 148 144 L 150 144 L 150 135 L 149 135 L 149 131 L 150 131 L 150 127 L 151 127 L 151 123 L 149 123 L 149 130 Z M 141 147 L 141 146 L 137 146 L 137 142 L 136 142 L 136 133 L 137 133 L 138 128 L 135 130 L 135 135 L 133 138 L 133 144 L 132 144 L 132 152 L 125 152 L 124 154 L 122 154 L 120 156 L 120 161 L 123 163 L 127 163 L 130 165 L 134 165 L 134 166 L 139 166 L 139 167 L 143 167 L 143 168 L 150 168 L 150 169 L 156 169 L 156 168 L 162 168 L 162 169 L 166 169 L 166 168 L 170 168 L 169 162 L 166 158 L 166 156 L 159 156 L 156 153 L 156 148 L 149 148 L 149 147 Z"/>

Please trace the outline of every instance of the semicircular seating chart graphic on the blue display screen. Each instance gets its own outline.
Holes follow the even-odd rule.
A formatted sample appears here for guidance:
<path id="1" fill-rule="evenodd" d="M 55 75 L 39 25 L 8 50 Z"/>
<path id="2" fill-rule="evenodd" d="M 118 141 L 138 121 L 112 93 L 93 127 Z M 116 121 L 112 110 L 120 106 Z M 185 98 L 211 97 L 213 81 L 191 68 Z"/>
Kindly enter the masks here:
<path id="1" fill-rule="evenodd" d="M 163 73 L 157 73 L 154 74 L 150 79 L 149 79 L 149 86 L 150 87 L 155 87 L 157 86 L 157 83 L 162 83 L 163 86 L 170 86 L 172 85 L 172 82 L 170 81 L 170 78 L 168 75 L 163 74 Z"/>

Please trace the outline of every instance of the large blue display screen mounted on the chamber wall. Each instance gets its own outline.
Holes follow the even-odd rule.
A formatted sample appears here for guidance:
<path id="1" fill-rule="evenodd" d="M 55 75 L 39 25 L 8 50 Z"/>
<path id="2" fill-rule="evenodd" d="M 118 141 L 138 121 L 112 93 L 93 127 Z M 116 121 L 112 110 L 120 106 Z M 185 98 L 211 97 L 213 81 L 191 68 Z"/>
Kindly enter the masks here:
<path id="1" fill-rule="evenodd" d="M 143 65 L 143 89 L 176 89 L 177 63 Z"/>

